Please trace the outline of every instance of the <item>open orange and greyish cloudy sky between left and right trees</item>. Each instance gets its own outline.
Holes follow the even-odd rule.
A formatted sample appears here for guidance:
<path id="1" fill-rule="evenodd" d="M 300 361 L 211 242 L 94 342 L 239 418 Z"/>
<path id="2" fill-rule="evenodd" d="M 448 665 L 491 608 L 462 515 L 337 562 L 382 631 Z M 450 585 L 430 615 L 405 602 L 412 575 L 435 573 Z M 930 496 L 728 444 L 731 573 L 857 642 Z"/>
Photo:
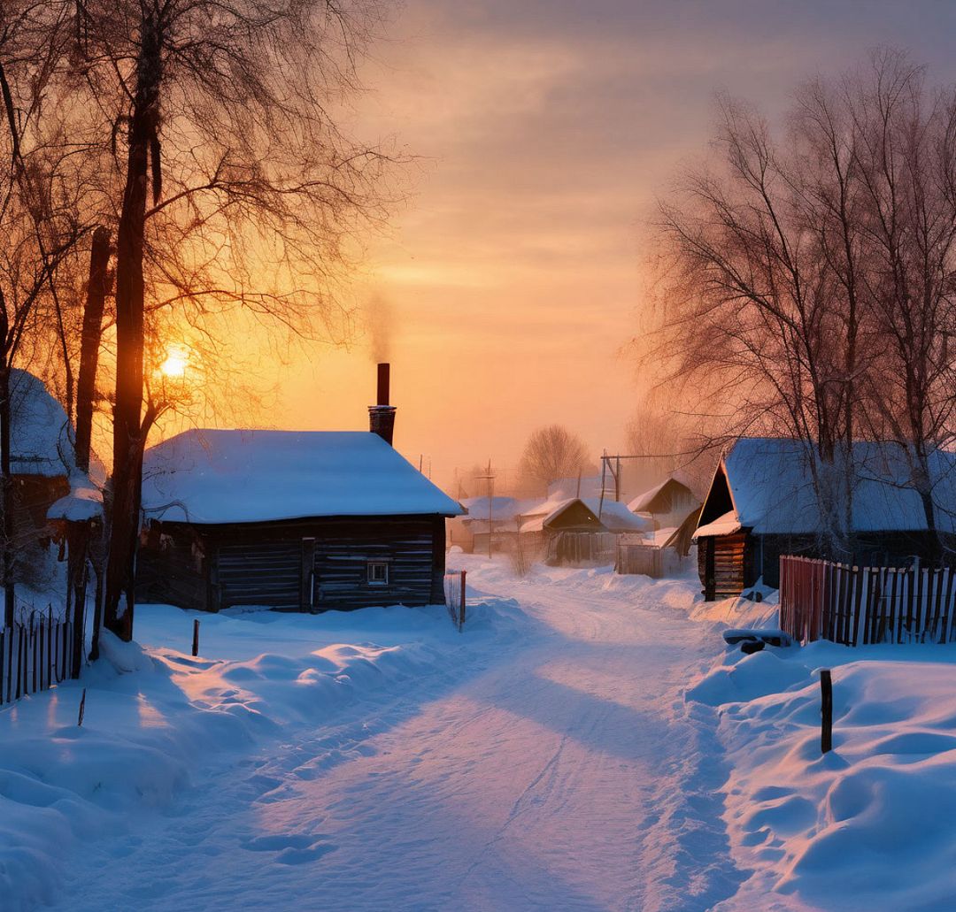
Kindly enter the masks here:
<path id="1" fill-rule="evenodd" d="M 951 7 L 917 6 L 409 0 L 365 69 L 359 131 L 424 160 L 355 290 L 391 316 L 402 453 L 450 485 L 456 466 L 513 467 L 546 423 L 619 448 L 640 385 L 620 350 L 642 226 L 706 151 L 714 93 L 780 112 L 801 77 L 880 42 L 951 77 Z M 365 427 L 369 349 L 297 357 L 273 423 Z"/>

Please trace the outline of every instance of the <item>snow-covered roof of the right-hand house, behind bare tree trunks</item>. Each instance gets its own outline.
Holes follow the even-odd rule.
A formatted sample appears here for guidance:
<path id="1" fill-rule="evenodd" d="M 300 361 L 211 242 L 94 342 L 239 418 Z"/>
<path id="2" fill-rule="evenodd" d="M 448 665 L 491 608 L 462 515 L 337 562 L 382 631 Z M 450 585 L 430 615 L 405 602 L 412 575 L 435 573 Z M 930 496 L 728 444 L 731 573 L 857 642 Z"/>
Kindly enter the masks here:
<path id="1" fill-rule="evenodd" d="M 735 519 L 758 535 L 811 534 L 819 531 L 819 508 L 811 473 L 810 452 L 802 441 L 775 437 L 743 437 L 722 458 L 714 483 L 727 477 Z M 911 486 L 912 470 L 904 449 L 894 443 L 858 441 L 853 447 L 854 532 L 916 532 L 926 529 L 923 504 Z M 830 469 L 838 492 L 842 470 Z M 937 525 L 956 532 L 956 454 L 937 450 L 930 456 Z M 711 487 L 711 494 L 713 487 Z M 841 499 L 837 495 L 836 499 Z M 702 517 L 705 516 L 702 514 Z M 696 536 L 707 534 L 698 528 Z M 713 534 L 728 534 L 709 533 Z"/>

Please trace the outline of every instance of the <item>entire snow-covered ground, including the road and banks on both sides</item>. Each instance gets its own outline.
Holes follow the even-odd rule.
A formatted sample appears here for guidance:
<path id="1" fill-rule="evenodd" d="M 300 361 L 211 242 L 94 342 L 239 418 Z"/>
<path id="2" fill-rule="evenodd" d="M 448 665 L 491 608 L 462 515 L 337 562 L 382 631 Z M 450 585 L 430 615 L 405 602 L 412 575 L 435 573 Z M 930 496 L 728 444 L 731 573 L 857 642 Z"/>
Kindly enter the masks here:
<path id="1" fill-rule="evenodd" d="M 193 659 L 198 615 L 141 606 L 81 729 L 76 684 L 0 712 L 0 906 L 952 907 L 948 647 L 742 658 L 721 623 L 772 603 L 452 561 L 462 634 L 440 606 L 202 615 Z"/>

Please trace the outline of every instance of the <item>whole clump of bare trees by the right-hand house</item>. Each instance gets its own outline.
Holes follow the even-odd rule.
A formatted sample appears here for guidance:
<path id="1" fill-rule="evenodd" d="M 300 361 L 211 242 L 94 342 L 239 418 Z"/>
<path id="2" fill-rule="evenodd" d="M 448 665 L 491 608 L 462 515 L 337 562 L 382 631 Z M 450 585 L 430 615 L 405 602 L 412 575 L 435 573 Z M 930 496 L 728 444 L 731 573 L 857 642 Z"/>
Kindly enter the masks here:
<path id="1" fill-rule="evenodd" d="M 724 99 L 719 175 L 663 205 L 673 376 L 728 404 L 732 430 L 805 443 L 824 550 L 845 552 L 853 489 L 876 473 L 937 533 L 953 433 L 956 93 L 881 50 L 800 87 L 784 142 Z M 855 464 L 860 436 L 907 467 Z"/>

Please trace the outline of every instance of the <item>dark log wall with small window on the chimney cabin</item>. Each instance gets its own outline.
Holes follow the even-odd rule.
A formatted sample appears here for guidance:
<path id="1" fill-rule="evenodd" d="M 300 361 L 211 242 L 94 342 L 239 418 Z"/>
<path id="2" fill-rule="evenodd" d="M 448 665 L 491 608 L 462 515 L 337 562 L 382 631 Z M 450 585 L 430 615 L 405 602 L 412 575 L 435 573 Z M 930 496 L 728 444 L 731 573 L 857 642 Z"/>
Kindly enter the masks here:
<path id="1" fill-rule="evenodd" d="M 154 525 L 164 537 L 149 537 L 137 572 L 152 601 L 304 611 L 444 601 L 443 517 Z M 195 536 L 205 554 L 198 573 L 184 561 Z M 387 584 L 368 582 L 369 561 L 388 564 Z"/>

